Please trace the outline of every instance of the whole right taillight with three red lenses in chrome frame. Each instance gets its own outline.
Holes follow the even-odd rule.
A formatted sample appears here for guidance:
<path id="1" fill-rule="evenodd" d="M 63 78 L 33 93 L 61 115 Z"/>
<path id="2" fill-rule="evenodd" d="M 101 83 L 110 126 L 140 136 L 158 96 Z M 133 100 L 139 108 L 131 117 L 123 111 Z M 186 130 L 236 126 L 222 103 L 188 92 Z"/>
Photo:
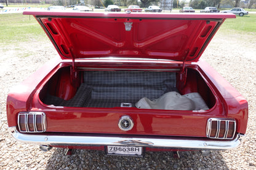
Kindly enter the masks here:
<path id="1" fill-rule="evenodd" d="M 225 118 L 209 118 L 206 136 L 214 139 L 233 139 L 236 133 L 236 121 Z"/>

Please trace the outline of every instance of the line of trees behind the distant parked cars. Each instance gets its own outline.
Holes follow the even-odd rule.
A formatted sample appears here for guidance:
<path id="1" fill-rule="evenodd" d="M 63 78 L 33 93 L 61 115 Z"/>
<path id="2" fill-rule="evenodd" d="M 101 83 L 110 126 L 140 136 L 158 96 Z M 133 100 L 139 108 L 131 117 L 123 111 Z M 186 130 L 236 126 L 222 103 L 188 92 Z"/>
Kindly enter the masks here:
<path id="1" fill-rule="evenodd" d="M 22 1 L 23 3 L 30 3 L 36 0 L 0 0 L 0 1 Z M 37 0 L 38 1 L 38 0 Z M 39 0 L 44 4 L 52 4 L 59 6 L 72 6 L 75 4 L 90 4 L 95 7 L 106 7 L 110 4 L 127 7 L 129 5 L 138 5 L 140 7 L 160 6 L 161 2 L 172 1 L 172 8 L 180 9 L 184 6 L 190 6 L 194 9 L 204 9 L 205 7 L 242 7 L 242 8 L 256 8 L 256 0 Z"/>

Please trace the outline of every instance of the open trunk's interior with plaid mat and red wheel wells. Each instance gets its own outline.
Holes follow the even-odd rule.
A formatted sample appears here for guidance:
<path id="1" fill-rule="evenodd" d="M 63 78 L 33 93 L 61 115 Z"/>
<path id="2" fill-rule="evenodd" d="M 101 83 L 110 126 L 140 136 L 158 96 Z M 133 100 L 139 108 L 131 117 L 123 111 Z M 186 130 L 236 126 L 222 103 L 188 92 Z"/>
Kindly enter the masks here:
<path id="1" fill-rule="evenodd" d="M 162 102 L 161 96 L 169 92 L 172 92 L 169 93 L 170 95 L 174 93 L 180 95 L 182 99 L 183 96 L 196 93 L 197 98 L 199 96 L 204 105 L 193 109 L 168 107 L 178 108 L 169 110 L 207 110 L 215 104 L 212 91 L 194 69 L 186 70 L 185 81 L 180 79 L 180 72 L 170 71 L 90 71 L 84 69 L 78 71 L 76 79 L 72 79 L 71 72 L 70 67 L 59 69 L 44 85 L 39 93 L 39 98 L 44 104 L 66 107 L 140 108 L 138 101 L 149 101 L 151 104 Z M 169 100 L 167 97 L 166 100 L 172 102 L 177 99 Z M 184 104 L 186 100 L 182 102 Z M 156 105 L 158 106 L 159 103 Z M 142 107 L 141 109 L 164 108 Z"/>

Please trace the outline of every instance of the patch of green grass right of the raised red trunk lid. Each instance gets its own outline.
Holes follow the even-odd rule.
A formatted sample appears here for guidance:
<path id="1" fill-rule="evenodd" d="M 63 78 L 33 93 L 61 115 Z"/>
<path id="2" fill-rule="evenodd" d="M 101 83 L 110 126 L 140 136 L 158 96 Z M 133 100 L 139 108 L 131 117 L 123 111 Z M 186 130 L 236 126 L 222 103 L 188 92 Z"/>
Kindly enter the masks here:
<path id="1" fill-rule="evenodd" d="M 238 33 L 256 33 L 256 14 L 236 16 L 235 19 L 226 19 L 220 27 L 221 31 L 233 30 Z"/>

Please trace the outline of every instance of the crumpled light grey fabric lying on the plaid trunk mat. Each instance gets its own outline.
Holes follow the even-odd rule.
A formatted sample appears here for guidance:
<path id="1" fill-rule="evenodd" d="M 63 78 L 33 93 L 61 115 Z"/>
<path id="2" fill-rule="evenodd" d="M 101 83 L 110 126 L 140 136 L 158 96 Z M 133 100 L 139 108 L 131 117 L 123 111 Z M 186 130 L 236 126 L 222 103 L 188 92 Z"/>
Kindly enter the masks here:
<path id="1" fill-rule="evenodd" d="M 140 99 L 135 106 L 139 109 L 166 109 L 166 110 L 208 110 L 206 102 L 199 93 L 180 95 L 176 91 L 165 93 L 160 98 L 151 101 L 148 98 Z"/>

